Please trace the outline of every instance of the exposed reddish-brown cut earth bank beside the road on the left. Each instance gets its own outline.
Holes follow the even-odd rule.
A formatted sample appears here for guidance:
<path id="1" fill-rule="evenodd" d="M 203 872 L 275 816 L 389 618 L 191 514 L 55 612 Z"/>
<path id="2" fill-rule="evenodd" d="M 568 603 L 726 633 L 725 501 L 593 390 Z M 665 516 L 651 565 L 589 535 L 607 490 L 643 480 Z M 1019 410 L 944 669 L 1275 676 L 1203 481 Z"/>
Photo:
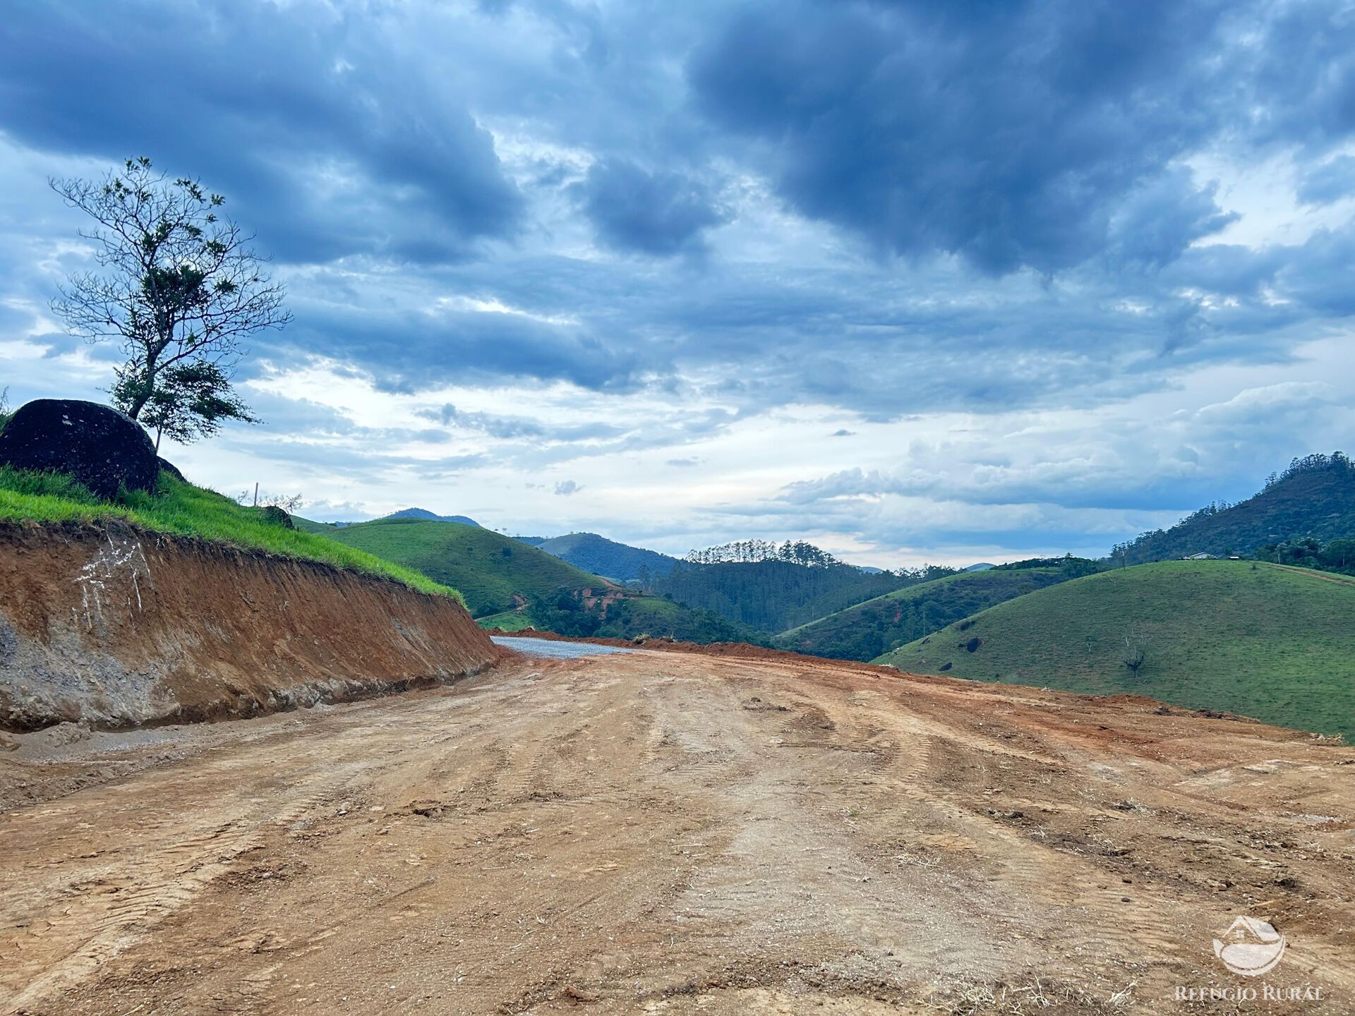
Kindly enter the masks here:
<path id="1" fill-rule="evenodd" d="M 255 715 L 500 656 L 459 604 L 383 578 L 122 524 L 0 522 L 0 729 Z"/>

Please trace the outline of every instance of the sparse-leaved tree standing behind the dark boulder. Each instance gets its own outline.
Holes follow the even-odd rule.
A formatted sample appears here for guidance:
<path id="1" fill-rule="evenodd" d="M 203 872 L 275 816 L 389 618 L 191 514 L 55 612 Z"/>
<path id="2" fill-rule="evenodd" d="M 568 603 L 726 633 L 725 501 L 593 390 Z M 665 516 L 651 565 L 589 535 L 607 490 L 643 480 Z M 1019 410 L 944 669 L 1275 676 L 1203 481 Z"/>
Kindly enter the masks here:
<path id="1" fill-rule="evenodd" d="M 70 276 L 51 309 L 88 341 L 121 343 L 127 362 L 111 389 L 118 408 L 136 420 L 154 405 L 153 425 L 188 439 L 221 419 L 251 420 L 229 383 L 241 341 L 282 328 L 291 314 L 252 234 L 218 211 L 225 198 L 198 180 L 169 179 L 149 158 L 129 158 L 102 180 L 47 183 L 95 221 L 80 236 L 95 245 L 99 271 Z M 202 398 L 201 383 L 183 383 L 190 367 L 210 368 L 211 398 Z M 194 416 L 209 427 L 188 425 Z"/>

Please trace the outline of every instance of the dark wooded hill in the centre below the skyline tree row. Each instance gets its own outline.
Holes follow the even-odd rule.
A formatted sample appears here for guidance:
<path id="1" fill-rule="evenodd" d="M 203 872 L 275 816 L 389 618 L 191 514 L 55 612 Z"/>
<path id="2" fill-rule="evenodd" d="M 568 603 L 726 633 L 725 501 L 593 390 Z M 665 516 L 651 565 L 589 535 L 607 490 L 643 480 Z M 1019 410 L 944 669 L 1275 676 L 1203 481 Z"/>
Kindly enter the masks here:
<path id="1" fill-rule="evenodd" d="M 892 572 L 869 573 L 851 565 L 827 568 L 790 561 L 682 561 L 646 587 L 688 607 L 714 611 L 736 625 L 785 631 L 854 603 L 908 584 Z"/>

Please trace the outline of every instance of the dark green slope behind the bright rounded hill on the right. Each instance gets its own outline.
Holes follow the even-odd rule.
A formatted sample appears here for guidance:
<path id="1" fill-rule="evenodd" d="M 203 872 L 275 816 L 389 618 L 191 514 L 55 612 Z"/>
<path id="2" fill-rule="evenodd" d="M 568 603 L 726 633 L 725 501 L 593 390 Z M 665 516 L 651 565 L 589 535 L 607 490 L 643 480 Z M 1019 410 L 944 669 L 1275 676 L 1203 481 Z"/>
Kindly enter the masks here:
<path id="1" fill-rule="evenodd" d="M 1057 565 L 962 572 L 829 614 L 776 635 L 774 643 L 832 660 L 874 660 L 970 614 L 1072 577 Z"/>

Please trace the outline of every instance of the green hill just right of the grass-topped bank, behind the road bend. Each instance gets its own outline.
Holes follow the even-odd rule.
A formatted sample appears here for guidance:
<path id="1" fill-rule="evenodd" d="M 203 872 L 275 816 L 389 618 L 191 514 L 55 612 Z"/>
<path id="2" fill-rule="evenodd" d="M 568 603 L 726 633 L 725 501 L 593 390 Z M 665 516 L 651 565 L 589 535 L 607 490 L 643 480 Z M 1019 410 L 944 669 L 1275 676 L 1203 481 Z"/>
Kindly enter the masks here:
<path id="1" fill-rule="evenodd" d="M 327 528 L 324 535 L 455 585 L 477 618 L 511 610 L 515 595 L 537 603 L 561 587 L 607 585 L 598 576 L 511 536 L 455 522 L 377 519 Z"/>

